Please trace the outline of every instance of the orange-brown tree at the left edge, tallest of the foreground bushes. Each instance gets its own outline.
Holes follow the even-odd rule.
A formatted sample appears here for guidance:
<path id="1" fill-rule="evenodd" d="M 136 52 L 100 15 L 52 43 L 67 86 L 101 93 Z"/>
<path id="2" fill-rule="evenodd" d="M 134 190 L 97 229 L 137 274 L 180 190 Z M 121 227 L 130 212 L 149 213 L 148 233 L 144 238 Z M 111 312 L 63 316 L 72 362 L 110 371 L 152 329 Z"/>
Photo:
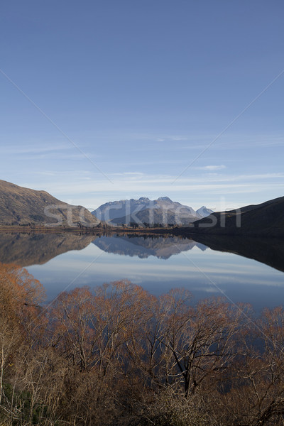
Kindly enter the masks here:
<path id="1" fill-rule="evenodd" d="M 5 415 L 13 416 L 18 410 L 13 405 L 18 364 L 26 345 L 31 349 L 39 340 L 39 304 L 43 297 L 42 285 L 26 269 L 0 264 L 0 413 Z M 12 391 L 8 383 L 13 383 Z"/>

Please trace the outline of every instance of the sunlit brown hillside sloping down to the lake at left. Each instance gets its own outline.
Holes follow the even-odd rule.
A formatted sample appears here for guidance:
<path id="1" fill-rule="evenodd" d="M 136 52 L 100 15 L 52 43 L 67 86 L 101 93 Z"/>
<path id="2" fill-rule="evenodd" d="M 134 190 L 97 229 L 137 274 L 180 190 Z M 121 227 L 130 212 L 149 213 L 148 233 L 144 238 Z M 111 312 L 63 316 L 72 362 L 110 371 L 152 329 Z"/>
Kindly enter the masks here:
<path id="1" fill-rule="evenodd" d="M 45 191 L 35 191 L 0 180 L 1 225 L 96 226 L 96 217 L 82 206 L 62 202 Z"/>

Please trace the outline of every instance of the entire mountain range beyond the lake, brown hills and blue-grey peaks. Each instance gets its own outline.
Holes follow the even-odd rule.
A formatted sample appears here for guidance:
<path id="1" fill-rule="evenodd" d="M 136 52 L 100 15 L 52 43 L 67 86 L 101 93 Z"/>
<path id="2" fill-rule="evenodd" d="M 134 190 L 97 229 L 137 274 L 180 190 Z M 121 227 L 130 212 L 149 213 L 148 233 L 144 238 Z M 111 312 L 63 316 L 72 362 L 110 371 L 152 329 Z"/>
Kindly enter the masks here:
<path id="1" fill-rule="evenodd" d="M 45 191 L 31 190 L 0 180 L 0 226 L 94 227 L 111 225 L 173 224 L 172 234 L 284 236 L 284 197 L 228 212 L 197 211 L 168 197 L 121 200 L 102 204 L 94 212 L 62 202 Z M 103 226 L 101 226 L 103 227 Z"/>

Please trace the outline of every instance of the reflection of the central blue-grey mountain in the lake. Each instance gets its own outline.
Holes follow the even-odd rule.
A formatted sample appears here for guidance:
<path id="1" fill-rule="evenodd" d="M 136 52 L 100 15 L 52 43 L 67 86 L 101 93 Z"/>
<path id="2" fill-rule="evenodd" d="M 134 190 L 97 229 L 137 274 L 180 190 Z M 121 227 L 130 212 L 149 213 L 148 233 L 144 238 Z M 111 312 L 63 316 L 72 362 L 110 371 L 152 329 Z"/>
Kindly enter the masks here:
<path id="1" fill-rule="evenodd" d="M 148 258 L 155 256 L 160 259 L 168 259 L 170 256 L 188 251 L 197 246 L 200 250 L 207 249 L 206 246 L 196 243 L 192 239 L 182 239 L 178 236 L 165 238 L 163 236 L 136 235 L 110 235 L 100 236 L 93 241 L 99 249 L 107 253 L 116 253 L 124 256 L 138 256 Z"/>

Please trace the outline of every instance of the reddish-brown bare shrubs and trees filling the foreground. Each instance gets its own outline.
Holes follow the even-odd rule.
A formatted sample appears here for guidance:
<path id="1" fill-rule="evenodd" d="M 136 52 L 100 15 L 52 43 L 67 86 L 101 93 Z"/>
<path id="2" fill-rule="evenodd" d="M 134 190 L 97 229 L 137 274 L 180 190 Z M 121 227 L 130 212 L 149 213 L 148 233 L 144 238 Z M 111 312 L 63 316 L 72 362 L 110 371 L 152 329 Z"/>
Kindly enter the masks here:
<path id="1" fill-rule="evenodd" d="M 284 310 L 0 266 L 0 425 L 284 425 Z"/>

